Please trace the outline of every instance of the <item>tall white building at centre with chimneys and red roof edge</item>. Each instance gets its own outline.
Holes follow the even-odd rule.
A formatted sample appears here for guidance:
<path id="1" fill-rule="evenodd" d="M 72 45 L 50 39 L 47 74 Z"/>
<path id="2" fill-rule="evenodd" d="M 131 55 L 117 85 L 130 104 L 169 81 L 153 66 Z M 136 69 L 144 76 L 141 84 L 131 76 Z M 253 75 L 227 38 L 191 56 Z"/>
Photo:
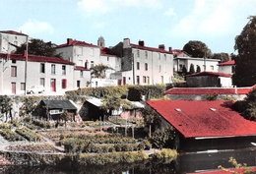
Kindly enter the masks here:
<path id="1" fill-rule="evenodd" d="M 145 46 L 144 41 L 130 43 L 129 38 L 115 45 L 111 52 L 122 57 L 119 85 L 170 84 L 173 77 L 173 54 L 164 45 Z"/>

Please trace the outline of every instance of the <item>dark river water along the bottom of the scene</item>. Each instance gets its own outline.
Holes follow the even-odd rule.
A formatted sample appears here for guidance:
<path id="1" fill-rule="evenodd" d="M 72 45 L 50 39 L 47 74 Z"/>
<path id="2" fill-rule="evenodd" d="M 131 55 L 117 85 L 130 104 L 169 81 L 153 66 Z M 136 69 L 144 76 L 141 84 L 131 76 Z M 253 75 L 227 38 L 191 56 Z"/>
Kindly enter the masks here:
<path id="1" fill-rule="evenodd" d="M 151 163 L 144 161 L 135 164 L 109 164 L 105 166 L 74 167 L 24 167 L 0 166 L 0 173 L 9 174 L 186 174 L 206 170 L 217 170 L 219 165 L 233 167 L 229 162 L 233 157 L 239 163 L 256 166 L 256 147 L 236 150 L 209 150 L 180 154 L 172 163 Z"/>

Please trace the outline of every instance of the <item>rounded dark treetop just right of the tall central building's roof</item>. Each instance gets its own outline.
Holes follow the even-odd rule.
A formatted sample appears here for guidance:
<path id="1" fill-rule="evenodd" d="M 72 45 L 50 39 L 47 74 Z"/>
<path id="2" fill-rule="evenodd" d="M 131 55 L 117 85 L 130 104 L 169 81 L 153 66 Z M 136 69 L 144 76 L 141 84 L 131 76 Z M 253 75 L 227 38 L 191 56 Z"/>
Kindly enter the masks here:
<path id="1" fill-rule="evenodd" d="M 191 57 L 204 58 L 213 56 L 211 49 L 209 49 L 204 42 L 198 40 L 190 40 L 184 45 L 183 51 L 188 53 Z"/>

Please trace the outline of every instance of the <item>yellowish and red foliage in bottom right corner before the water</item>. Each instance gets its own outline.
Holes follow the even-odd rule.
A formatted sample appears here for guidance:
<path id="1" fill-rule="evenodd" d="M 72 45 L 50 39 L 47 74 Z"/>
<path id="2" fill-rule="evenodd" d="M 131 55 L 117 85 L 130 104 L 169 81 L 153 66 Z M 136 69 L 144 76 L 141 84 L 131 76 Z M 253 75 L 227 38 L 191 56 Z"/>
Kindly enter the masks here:
<path id="1" fill-rule="evenodd" d="M 222 169 L 225 172 L 230 172 L 233 174 L 256 173 L 256 171 L 253 171 L 253 169 L 251 167 L 248 167 L 245 163 L 244 164 L 238 163 L 233 157 L 230 157 L 228 162 L 230 162 L 235 167 L 235 169 L 227 169 L 227 168 L 224 168 L 222 165 L 219 165 L 218 168 Z"/>

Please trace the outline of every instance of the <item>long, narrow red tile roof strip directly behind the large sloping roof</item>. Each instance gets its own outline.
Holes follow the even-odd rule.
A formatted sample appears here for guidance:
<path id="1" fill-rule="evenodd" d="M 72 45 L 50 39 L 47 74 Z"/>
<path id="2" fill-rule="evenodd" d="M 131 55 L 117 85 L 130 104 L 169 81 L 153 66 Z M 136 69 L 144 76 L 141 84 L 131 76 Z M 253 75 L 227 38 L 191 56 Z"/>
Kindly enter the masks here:
<path id="1" fill-rule="evenodd" d="M 173 87 L 165 94 L 247 94 L 254 87 Z"/>

